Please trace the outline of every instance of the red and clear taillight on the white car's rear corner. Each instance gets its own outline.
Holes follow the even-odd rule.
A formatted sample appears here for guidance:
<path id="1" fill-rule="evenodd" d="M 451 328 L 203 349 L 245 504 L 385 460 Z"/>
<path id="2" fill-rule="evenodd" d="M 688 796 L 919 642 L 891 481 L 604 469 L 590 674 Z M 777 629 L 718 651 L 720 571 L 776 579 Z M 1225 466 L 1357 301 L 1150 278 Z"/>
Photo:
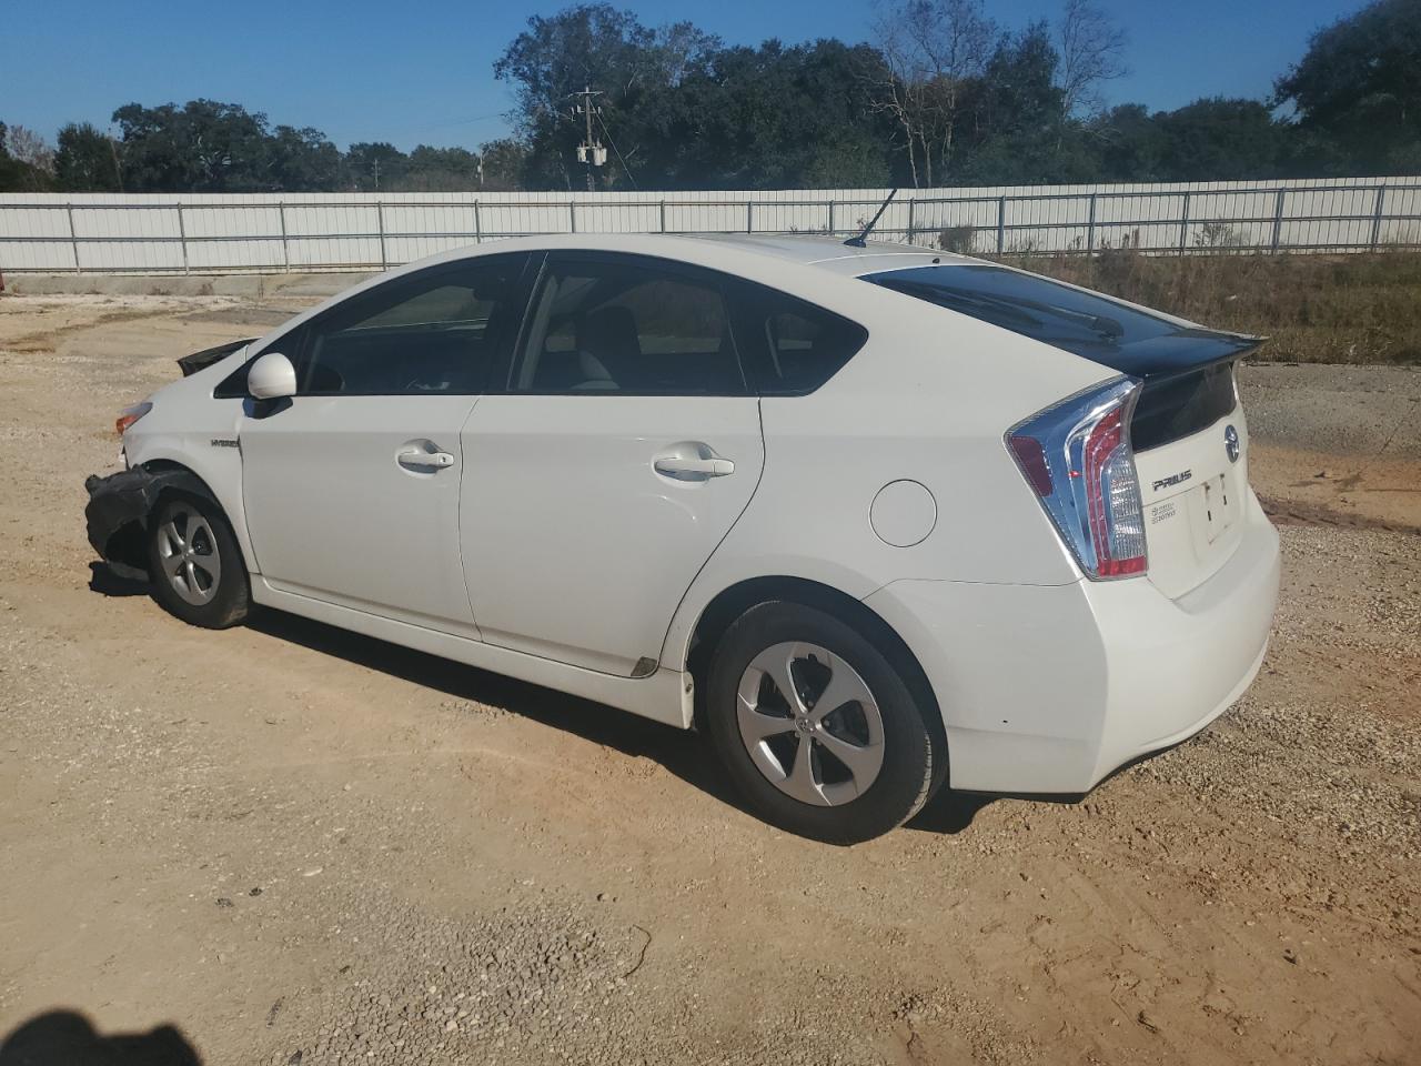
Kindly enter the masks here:
<path id="1" fill-rule="evenodd" d="M 1130 415 L 1140 384 L 1118 378 L 1032 415 L 1006 446 L 1087 577 L 1148 569 Z"/>

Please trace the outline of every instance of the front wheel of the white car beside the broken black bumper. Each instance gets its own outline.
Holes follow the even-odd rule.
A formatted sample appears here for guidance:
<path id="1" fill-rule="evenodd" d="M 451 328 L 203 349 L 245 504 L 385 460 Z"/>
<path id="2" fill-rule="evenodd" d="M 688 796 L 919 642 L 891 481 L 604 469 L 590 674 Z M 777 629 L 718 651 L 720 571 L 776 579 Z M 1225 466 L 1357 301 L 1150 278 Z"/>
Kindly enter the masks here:
<path id="1" fill-rule="evenodd" d="M 178 534 L 175 544 L 173 532 Z M 222 507 L 202 496 L 168 493 L 158 503 L 148 522 L 148 573 L 152 596 L 158 604 L 189 625 L 226 630 L 240 625 L 252 605 L 252 584 L 242 549 L 232 534 L 232 526 Z M 180 559 L 176 578 L 169 567 L 175 549 L 192 549 L 189 559 Z M 193 564 L 188 570 L 186 563 Z M 196 591 L 186 574 L 196 578 Z M 213 574 L 216 578 L 213 580 Z"/>

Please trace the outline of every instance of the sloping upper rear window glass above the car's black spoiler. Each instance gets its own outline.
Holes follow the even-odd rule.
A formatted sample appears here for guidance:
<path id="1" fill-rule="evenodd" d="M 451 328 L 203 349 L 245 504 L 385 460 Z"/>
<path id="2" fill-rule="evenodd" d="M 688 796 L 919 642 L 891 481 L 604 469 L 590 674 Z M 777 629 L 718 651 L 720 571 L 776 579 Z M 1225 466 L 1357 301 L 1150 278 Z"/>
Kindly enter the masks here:
<path id="1" fill-rule="evenodd" d="M 864 280 L 1107 364 L 1125 344 L 1181 328 L 1104 296 L 996 266 L 912 267 Z"/>

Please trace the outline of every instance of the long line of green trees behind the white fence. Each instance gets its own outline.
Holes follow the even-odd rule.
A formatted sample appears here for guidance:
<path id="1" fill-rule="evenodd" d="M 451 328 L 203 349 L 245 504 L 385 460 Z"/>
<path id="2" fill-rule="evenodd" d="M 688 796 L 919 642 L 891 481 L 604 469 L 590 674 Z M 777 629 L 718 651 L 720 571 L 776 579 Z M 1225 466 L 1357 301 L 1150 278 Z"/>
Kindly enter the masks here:
<path id="1" fill-rule="evenodd" d="M 388 142 L 341 154 L 311 128 L 195 99 L 67 125 L 58 151 L 0 124 L 0 190 L 362 192 L 875 188 L 1226 181 L 1421 171 L 1421 0 L 1377 0 L 1312 38 L 1272 101 L 1094 109 L 1123 33 L 1091 0 L 1003 31 L 980 0 L 887 0 L 878 44 L 725 45 L 607 3 L 533 16 L 493 67 L 516 135 L 477 151 Z M 1273 107 L 1292 105 L 1277 118 Z M 16 142 L 23 148 L 16 151 Z"/>

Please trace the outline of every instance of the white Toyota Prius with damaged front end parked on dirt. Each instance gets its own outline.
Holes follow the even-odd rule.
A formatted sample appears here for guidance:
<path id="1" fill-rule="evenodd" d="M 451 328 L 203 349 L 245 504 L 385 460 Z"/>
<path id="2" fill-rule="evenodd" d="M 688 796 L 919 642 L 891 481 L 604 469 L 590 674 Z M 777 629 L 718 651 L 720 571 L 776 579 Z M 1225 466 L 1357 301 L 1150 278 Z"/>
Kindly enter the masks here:
<path id="1" fill-rule="evenodd" d="M 182 360 L 90 540 L 253 604 L 706 732 L 766 820 L 1079 796 L 1263 659 L 1256 337 L 826 237 L 527 237 Z"/>

